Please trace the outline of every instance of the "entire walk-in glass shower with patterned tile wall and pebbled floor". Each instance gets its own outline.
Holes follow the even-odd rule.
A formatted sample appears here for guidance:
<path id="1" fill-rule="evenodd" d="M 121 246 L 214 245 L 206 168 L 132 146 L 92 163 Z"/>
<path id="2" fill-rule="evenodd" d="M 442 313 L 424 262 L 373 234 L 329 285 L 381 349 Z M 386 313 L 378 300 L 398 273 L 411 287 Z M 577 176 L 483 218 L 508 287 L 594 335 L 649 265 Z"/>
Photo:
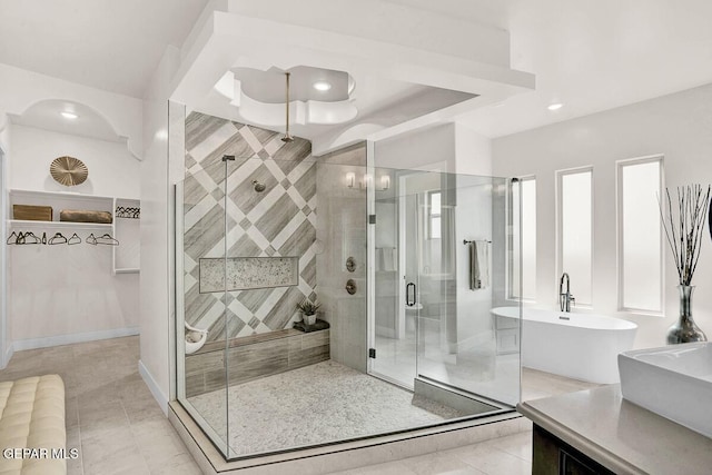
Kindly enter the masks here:
<path id="1" fill-rule="evenodd" d="M 491 314 L 513 305 L 518 269 L 510 181 L 382 167 L 365 144 L 313 157 L 307 140 L 198 112 L 180 122 L 177 397 L 226 458 L 513 410 L 518 326 Z M 207 331 L 191 354 L 186 324 Z"/>

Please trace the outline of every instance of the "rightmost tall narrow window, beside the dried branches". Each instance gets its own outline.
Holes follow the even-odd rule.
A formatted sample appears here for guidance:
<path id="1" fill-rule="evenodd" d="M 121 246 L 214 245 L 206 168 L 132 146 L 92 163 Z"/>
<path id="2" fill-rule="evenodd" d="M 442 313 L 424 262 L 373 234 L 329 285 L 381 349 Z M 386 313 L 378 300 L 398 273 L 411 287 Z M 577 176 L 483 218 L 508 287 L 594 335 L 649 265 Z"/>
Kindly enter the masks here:
<path id="1" fill-rule="evenodd" d="M 619 309 L 663 309 L 662 156 L 617 164 Z"/>

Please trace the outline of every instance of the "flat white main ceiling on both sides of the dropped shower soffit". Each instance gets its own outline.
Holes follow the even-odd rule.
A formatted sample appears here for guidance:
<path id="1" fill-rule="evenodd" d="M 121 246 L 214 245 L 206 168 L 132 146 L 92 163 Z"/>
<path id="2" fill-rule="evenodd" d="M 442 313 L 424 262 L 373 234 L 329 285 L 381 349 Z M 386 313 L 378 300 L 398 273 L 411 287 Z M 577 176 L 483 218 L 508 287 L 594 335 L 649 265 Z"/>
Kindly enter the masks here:
<path id="1" fill-rule="evenodd" d="M 510 31 L 511 67 L 537 86 L 457 117 L 488 137 L 712 82 L 709 0 L 387 1 Z M 140 98 L 206 3 L 0 0 L 0 62 Z"/>

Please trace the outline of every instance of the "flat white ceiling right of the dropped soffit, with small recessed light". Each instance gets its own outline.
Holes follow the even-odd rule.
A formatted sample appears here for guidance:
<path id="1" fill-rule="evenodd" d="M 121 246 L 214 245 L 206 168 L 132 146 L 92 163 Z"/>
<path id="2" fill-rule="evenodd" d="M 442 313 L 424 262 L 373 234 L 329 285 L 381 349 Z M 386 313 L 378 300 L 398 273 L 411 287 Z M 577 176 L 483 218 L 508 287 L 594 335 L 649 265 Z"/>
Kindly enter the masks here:
<path id="1" fill-rule="evenodd" d="M 712 82 L 709 0 L 502 3 L 488 14 L 510 30 L 512 68 L 534 72 L 536 90 L 457 118 L 487 137 Z M 554 102 L 563 107 L 547 110 Z"/>

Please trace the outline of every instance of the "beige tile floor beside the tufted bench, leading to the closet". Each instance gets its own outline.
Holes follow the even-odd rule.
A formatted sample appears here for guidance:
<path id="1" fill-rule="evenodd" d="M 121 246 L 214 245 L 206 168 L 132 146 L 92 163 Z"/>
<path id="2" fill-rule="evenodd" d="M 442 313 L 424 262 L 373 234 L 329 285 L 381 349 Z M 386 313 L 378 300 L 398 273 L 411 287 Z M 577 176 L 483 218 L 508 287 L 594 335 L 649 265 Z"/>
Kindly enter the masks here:
<path id="1" fill-rule="evenodd" d="M 0 380 L 65 382 L 69 475 L 194 475 L 200 469 L 138 374 L 138 337 L 17 352 Z"/>

